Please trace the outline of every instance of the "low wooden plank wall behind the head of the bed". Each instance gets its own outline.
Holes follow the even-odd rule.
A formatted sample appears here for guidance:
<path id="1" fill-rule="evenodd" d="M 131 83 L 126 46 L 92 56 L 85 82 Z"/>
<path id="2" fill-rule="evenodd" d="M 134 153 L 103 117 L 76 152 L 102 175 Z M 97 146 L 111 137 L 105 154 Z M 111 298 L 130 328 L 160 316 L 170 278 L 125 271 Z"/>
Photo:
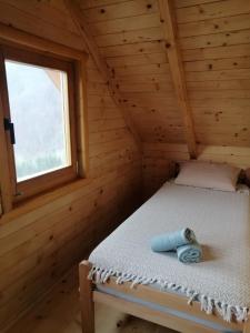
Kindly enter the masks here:
<path id="1" fill-rule="evenodd" d="M 221 142 L 221 140 L 220 140 Z M 238 168 L 249 168 L 250 144 L 248 147 L 221 147 L 198 144 L 198 160 L 230 163 Z M 152 195 L 169 178 L 173 175 L 173 162 L 189 160 L 187 144 L 143 143 L 143 194 Z"/>

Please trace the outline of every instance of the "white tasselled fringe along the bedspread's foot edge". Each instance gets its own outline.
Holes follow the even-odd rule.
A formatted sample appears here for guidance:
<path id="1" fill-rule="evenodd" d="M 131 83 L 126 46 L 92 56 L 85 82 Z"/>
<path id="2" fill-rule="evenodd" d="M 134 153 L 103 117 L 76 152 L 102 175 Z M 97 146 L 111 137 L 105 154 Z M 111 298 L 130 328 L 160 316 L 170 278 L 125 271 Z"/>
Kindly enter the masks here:
<path id="1" fill-rule="evenodd" d="M 217 310 L 218 313 L 227 322 L 231 322 L 232 317 L 236 319 L 238 322 L 246 322 L 250 313 L 250 309 L 247 306 L 230 305 L 224 302 L 213 300 L 212 297 L 209 297 L 207 295 L 201 295 L 200 293 L 193 290 L 190 290 L 181 285 L 177 285 L 176 283 L 161 281 L 159 279 L 137 276 L 134 274 L 120 273 L 112 269 L 106 270 L 93 265 L 88 275 L 88 279 L 92 280 L 96 283 L 106 283 L 111 276 L 117 278 L 116 280 L 117 284 L 122 284 L 124 282 L 132 282 L 130 286 L 131 289 L 134 287 L 137 284 L 158 283 L 162 289 L 179 291 L 189 297 L 188 300 L 189 305 L 191 305 L 193 301 L 198 301 L 201 303 L 201 311 L 204 311 L 207 314 L 212 314 L 213 311 Z"/>

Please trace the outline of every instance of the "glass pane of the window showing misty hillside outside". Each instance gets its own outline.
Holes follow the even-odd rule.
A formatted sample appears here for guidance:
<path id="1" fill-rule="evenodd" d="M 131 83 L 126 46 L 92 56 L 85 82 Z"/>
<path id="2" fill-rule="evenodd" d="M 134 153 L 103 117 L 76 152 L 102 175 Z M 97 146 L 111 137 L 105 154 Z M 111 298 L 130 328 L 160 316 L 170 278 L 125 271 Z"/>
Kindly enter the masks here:
<path id="1" fill-rule="evenodd" d="M 20 182 L 71 164 L 67 73 L 6 60 Z"/>

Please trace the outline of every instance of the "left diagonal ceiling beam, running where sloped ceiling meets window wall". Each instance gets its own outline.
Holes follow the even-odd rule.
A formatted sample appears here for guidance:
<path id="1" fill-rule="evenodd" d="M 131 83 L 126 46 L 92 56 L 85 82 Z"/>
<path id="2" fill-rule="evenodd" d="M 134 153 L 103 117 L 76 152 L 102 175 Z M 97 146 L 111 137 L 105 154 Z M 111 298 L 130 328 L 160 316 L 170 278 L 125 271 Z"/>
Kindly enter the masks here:
<path id="1" fill-rule="evenodd" d="M 117 82 L 112 78 L 111 72 L 109 71 L 109 68 L 108 68 L 106 61 L 99 53 L 99 49 L 98 49 L 98 46 L 96 44 L 96 41 L 91 34 L 90 27 L 89 27 L 88 22 L 86 21 L 83 14 L 81 14 L 81 9 L 77 4 L 77 2 L 73 0 L 64 0 L 64 4 L 72 18 L 72 21 L 74 22 L 76 27 L 78 28 L 79 33 L 82 37 L 83 46 L 87 47 L 89 53 L 92 56 L 98 70 L 100 71 L 103 80 L 108 84 L 108 89 L 110 91 L 111 98 L 113 99 L 114 103 L 121 110 L 129 131 L 134 137 L 134 140 L 137 141 L 139 148 L 141 149 L 141 138 L 136 129 L 136 125 L 134 125 L 132 119 L 131 119 L 130 111 L 128 110 L 128 108 L 126 108 L 122 104 L 123 98 L 117 88 Z"/>

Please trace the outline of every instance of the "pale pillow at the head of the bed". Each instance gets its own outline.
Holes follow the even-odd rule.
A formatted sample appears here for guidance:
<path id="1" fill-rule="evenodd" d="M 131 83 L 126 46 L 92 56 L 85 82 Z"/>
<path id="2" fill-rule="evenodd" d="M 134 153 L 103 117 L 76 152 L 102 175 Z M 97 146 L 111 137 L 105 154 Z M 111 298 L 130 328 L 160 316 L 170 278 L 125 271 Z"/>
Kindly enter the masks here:
<path id="1" fill-rule="evenodd" d="M 229 164 L 189 161 L 181 164 L 174 183 L 233 192 L 239 173 L 239 168 Z"/>

